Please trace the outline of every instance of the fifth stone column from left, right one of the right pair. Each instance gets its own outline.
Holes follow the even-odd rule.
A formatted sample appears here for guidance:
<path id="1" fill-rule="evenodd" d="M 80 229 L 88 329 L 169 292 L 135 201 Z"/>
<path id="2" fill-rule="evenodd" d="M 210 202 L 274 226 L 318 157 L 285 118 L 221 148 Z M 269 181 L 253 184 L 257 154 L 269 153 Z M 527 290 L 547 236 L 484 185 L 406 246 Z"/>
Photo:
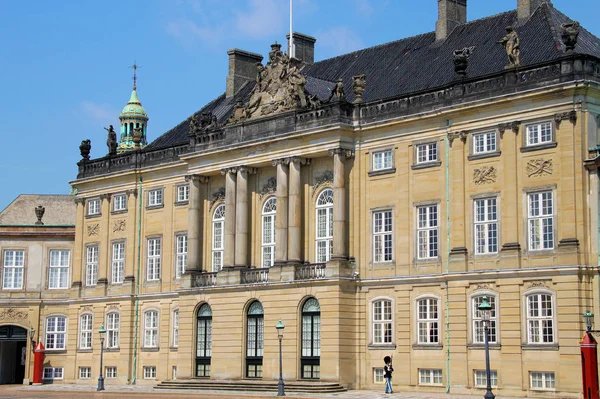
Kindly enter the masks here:
<path id="1" fill-rule="evenodd" d="M 289 159 L 289 163 L 288 262 L 297 264 L 302 261 L 302 236 L 300 234 L 302 182 L 300 179 L 300 166 L 308 164 L 308 160 L 292 157 Z"/>

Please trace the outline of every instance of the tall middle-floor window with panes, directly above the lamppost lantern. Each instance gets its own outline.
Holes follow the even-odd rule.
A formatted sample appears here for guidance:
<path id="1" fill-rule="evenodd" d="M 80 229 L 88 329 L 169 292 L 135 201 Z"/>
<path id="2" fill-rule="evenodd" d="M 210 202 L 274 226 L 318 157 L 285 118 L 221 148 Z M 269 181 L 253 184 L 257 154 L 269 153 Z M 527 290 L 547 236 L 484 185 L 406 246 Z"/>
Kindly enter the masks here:
<path id="1" fill-rule="evenodd" d="M 498 214 L 496 198 L 482 198 L 475 204 L 475 253 L 477 255 L 498 252 Z"/>

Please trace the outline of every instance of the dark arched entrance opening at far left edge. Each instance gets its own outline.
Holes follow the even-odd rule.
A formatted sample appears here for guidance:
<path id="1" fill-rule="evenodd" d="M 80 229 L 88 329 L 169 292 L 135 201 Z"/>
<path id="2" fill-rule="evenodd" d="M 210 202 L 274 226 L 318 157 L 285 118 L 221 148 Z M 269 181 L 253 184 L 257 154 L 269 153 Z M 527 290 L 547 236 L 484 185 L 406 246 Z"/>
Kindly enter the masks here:
<path id="1" fill-rule="evenodd" d="M 0 384 L 23 384 L 27 359 L 27 330 L 0 327 Z"/>

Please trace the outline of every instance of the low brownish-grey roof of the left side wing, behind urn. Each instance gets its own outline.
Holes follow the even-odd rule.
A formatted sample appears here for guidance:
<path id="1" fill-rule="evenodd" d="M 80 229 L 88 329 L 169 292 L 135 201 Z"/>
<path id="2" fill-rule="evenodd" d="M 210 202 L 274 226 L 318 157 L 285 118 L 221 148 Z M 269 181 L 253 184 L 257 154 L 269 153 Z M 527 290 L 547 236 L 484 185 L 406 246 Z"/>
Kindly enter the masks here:
<path id="1" fill-rule="evenodd" d="M 70 195 L 21 194 L 0 212 L 0 226 L 34 225 L 35 207 L 46 208 L 42 222 L 45 226 L 75 226 L 75 199 Z"/>

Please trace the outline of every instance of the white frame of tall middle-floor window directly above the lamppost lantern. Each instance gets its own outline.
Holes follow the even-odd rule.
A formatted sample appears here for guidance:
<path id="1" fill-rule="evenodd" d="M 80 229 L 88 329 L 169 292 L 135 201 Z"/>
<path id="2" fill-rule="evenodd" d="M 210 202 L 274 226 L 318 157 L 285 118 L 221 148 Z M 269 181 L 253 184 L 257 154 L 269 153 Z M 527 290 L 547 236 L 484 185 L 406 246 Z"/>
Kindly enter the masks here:
<path id="1" fill-rule="evenodd" d="M 489 202 L 490 201 L 494 201 L 494 207 L 495 207 L 495 219 L 488 219 L 489 216 L 489 209 L 490 209 L 490 205 Z M 477 207 L 478 207 L 478 203 L 483 202 L 484 203 L 484 216 L 485 216 L 485 220 L 477 220 L 478 217 L 478 211 L 477 211 Z M 493 256 L 493 255 L 498 255 L 498 253 L 500 252 L 500 234 L 501 234 L 501 226 L 500 226 L 500 206 L 499 206 L 499 195 L 498 194 L 482 194 L 482 195 L 477 195 L 477 196 L 473 196 L 472 197 L 472 203 L 473 203 L 473 224 L 472 224 L 472 228 L 473 228 L 473 253 L 475 256 Z M 484 233 L 484 251 L 481 252 L 480 251 L 480 245 L 478 242 L 478 226 L 483 226 L 483 233 Z M 495 226 L 495 238 L 496 238 L 496 243 L 495 243 L 495 251 L 493 251 L 493 244 L 490 243 L 490 227 L 491 226 Z"/>

